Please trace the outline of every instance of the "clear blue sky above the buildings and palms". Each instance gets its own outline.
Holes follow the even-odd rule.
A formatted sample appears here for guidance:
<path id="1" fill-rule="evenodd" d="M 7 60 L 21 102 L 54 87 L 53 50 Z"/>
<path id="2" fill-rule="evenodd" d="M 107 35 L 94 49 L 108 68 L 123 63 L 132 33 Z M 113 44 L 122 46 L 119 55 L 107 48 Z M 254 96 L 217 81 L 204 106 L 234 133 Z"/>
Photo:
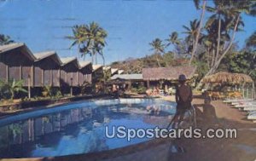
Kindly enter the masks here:
<path id="1" fill-rule="evenodd" d="M 110 63 L 150 55 L 148 43 L 155 37 L 166 39 L 171 32 L 183 32 L 183 25 L 199 17 L 200 11 L 188 0 L 7 0 L 0 2 L 0 33 L 26 43 L 33 52 L 50 49 L 61 57 L 79 57 L 76 47 L 68 49 L 72 42 L 64 37 L 72 35 L 71 26 L 96 21 L 108 31 L 104 55 Z M 236 37 L 240 47 L 256 26 L 255 18 L 243 19 L 245 31 Z"/>

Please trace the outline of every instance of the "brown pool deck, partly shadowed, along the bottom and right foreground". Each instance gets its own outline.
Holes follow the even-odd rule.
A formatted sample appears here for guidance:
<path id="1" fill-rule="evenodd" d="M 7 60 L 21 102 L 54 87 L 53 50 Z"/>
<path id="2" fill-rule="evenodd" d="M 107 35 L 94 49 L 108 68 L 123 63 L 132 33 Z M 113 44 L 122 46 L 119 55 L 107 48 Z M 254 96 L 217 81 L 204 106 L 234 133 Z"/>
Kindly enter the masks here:
<path id="1" fill-rule="evenodd" d="M 164 100 L 172 101 L 173 97 Z M 236 128 L 236 139 L 177 139 L 175 141 L 155 140 L 125 147 L 109 152 L 98 152 L 55 158 L 24 158 L 2 160 L 157 160 L 157 161 L 254 161 L 256 159 L 256 124 L 247 121 L 246 113 L 230 108 L 222 101 L 212 101 L 212 106 L 202 106 L 203 99 L 197 97 L 193 103 L 196 107 L 197 126 L 208 128 Z M 184 152 L 173 152 L 171 147 L 183 147 Z"/>

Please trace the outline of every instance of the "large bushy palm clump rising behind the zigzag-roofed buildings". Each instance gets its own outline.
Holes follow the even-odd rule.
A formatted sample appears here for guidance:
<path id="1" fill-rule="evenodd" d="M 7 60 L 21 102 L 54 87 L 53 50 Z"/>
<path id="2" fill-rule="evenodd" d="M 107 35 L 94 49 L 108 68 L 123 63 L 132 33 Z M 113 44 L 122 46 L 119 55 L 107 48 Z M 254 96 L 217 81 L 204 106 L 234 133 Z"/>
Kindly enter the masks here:
<path id="1" fill-rule="evenodd" d="M 81 56 L 90 55 L 94 64 L 97 63 L 97 54 L 101 55 L 104 61 L 102 49 L 107 44 L 106 37 L 108 33 L 96 22 L 91 22 L 90 25 L 73 26 L 73 36 L 67 38 L 73 40 L 70 48 L 78 45 Z"/>

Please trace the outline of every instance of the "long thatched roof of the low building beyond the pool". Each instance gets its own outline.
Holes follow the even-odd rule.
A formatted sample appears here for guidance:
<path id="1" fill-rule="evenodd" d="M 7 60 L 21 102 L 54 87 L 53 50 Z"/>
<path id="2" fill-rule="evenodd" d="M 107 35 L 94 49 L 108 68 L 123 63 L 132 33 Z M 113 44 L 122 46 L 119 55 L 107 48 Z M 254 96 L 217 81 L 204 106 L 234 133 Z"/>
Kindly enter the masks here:
<path id="1" fill-rule="evenodd" d="M 177 80 L 178 76 L 184 74 L 188 79 L 195 76 L 195 66 L 172 66 L 143 68 L 144 80 Z"/>

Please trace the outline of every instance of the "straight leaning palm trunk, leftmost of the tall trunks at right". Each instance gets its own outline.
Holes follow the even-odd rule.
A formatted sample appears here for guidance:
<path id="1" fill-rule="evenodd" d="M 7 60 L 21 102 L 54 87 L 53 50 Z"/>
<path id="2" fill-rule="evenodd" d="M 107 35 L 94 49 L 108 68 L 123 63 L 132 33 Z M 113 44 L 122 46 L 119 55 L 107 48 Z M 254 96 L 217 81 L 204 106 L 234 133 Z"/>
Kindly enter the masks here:
<path id="1" fill-rule="evenodd" d="M 198 41 L 199 41 L 199 37 L 200 37 L 200 33 L 201 33 L 201 26 L 203 24 L 203 19 L 204 19 L 204 15 L 205 15 L 205 11 L 206 11 L 206 5 L 207 5 L 207 1 L 204 0 L 203 6 L 202 6 L 202 11 L 201 11 L 200 24 L 198 27 L 198 31 L 196 33 L 195 43 L 193 43 L 193 50 L 192 50 L 191 58 L 189 60 L 189 66 L 191 66 L 192 60 L 194 59 L 194 56 L 195 56 L 195 51 L 197 49 L 197 45 L 198 45 Z"/>

